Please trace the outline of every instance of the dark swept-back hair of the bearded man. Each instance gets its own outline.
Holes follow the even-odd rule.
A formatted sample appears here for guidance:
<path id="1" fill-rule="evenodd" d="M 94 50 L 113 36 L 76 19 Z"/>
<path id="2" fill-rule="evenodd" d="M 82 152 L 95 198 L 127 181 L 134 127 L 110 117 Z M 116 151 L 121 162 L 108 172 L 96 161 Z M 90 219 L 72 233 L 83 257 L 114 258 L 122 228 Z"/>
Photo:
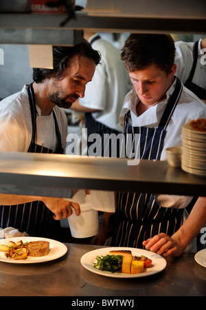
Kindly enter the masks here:
<path id="1" fill-rule="evenodd" d="M 74 55 L 84 55 L 89 59 L 93 59 L 95 65 L 98 65 L 101 60 L 100 52 L 93 50 L 89 42 L 83 39 L 81 43 L 74 46 L 54 46 L 53 47 L 53 69 L 33 68 L 33 80 L 36 83 L 42 83 L 45 79 L 54 76 L 60 79 L 65 68 L 69 65 L 69 61 Z"/>

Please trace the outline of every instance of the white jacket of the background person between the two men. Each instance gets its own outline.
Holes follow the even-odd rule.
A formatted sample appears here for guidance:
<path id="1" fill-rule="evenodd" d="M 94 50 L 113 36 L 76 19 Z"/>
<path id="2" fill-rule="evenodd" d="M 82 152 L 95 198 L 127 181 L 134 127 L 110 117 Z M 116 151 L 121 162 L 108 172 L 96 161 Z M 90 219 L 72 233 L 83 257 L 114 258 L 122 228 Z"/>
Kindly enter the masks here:
<path id="1" fill-rule="evenodd" d="M 89 42 L 98 34 L 89 38 Z M 92 116 L 107 127 L 122 132 L 119 114 L 124 97 L 131 89 L 128 72 L 120 59 L 119 50 L 111 43 L 98 39 L 92 43 L 94 50 L 100 51 L 102 59 L 95 69 L 95 74 L 86 87 L 84 98 L 78 99 L 84 107 L 100 110 Z"/>

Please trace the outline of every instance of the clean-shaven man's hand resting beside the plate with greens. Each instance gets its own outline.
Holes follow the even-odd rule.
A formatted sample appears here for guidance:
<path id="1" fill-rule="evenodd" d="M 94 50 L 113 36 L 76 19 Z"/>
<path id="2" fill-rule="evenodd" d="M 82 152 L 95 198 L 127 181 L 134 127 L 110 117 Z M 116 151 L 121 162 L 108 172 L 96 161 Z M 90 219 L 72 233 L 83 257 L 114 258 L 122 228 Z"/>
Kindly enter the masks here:
<path id="1" fill-rule="evenodd" d="M 176 257 L 181 256 L 183 252 L 183 248 L 178 240 L 163 233 L 145 240 L 142 244 L 145 245 L 146 249 L 157 254 L 163 254 L 163 256 L 172 255 Z"/>

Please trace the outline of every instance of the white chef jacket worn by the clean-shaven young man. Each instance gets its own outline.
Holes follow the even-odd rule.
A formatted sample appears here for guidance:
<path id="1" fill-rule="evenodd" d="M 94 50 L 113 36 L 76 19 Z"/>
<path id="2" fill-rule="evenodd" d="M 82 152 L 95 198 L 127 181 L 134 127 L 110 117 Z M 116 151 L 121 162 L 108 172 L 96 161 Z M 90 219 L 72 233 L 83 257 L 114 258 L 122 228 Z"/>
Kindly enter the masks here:
<path id="1" fill-rule="evenodd" d="M 175 85 L 176 80 L 166 92 L 166 99 L 159 102 L 157 105 L 152 105 L 140 116 L 137 116 L 136 113 L 136 106 L 139 103 L 139 97 L 133 87 L 125 98 L 122 112 L 120 114 L 121 123 L 124 121 L 124 115 L 126 112 L 130 110 L 130 125 L 138 127 L 158 127 L 168 99 L 172 95 L 172 92 L 174 92 Z M 181 146 L 181 126 L 189 120 L 197 118 L 206 118 L 206 105 L 203 101 L 201 101 L 201 99 L 198 99 L 194 93 L 183 86 L 181 97 L 166 129 L 163 151 L 160 158 L 161 161 L 166 160 L 166 148 L 178 145 Z M 192 197 L 187 196 L 157 195 L 157 202 L 161 205 L 161 207 L 186 207 L 191 200 Z"/>

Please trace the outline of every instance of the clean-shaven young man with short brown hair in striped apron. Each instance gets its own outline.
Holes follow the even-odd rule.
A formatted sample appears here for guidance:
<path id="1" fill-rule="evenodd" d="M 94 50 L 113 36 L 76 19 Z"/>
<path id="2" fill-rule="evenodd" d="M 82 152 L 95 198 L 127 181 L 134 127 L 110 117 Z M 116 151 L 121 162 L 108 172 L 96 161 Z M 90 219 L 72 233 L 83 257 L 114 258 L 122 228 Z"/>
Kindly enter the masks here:
<path id="1" fill-rule="evenodd" d="M 140 134 L 142 159 L 165 160 L 167 147 L 181 145 L 181 126 L 190 119 L 206 118 L 205 103 L 174 75 L 174 54 L 174 41 L 164 34 L 130 34 L 122 48 L 122 61 L 133 83 L 121 114 L 124 134 Z M 144 240 L 157 234 L 172 236 L 183 225 L 184 209 L 192 197 L 148 191 L 117 193 L 117 210 L 112 217 L 104 214 L 93 243 L 108 237 L 108 219 L 112 246 L 142 248 Z M 199 198 L 197 204 L 203 207 L 203 201 Z"/>

